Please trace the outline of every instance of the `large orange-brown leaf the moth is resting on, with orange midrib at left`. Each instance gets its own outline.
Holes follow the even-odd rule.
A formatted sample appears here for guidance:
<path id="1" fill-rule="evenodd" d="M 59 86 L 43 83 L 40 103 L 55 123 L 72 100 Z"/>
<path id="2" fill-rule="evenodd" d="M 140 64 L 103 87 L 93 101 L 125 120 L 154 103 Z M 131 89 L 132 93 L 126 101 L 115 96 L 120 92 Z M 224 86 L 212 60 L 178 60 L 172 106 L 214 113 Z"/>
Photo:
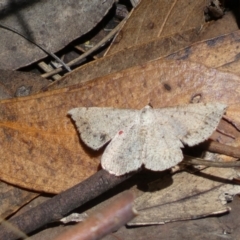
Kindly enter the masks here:
<path id="1" fill-rule="evenodd" d="M 1 179 L 58 193 L 97 171 L 100 153 L 79 144 L 67 112 L 74 107 L 141 109 L 202 102 L 237 106 L 236 75 L 186 61 L 157 60 L 92 82 L 0 102 Z M 226 82 L 228 88 L 226 89 Z M 236 119 L 238 121 L 238 119 Z"/>

